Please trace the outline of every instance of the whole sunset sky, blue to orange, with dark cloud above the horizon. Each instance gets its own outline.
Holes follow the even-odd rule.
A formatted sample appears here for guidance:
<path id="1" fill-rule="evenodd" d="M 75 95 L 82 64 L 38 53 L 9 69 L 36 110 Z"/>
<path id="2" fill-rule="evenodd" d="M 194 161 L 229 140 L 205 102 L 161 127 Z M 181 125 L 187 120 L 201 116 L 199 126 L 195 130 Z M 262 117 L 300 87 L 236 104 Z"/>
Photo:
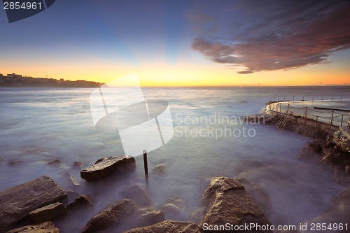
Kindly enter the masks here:
<path id="1" fill-rule="evenodd" d="M 142 86 L 350 85 L 349 1 L 59 0 L 8 22 L 0 73 Z"/>

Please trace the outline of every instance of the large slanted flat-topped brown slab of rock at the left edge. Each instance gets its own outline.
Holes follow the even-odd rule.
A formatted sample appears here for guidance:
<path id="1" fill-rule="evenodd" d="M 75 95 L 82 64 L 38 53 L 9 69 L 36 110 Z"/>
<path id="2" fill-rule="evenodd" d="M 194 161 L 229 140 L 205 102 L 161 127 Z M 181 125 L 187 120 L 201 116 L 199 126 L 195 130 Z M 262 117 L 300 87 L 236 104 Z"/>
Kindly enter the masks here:
<path id="1" fill-rule="evenodd" d="M 58 202 L 66 192 L 48 176 L 0 192 L 0 225 L 3 232 L 35 209 Z"/>

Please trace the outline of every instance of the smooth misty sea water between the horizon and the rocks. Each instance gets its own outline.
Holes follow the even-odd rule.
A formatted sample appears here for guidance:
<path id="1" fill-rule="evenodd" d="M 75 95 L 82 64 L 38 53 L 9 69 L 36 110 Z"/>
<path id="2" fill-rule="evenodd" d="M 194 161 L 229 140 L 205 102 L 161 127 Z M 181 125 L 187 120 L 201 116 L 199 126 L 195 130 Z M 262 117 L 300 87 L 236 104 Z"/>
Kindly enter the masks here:
<path id="1" fill-rule="evenodd" d="M 97 132 L 89 97 L 93 89 L 0 90 L 0 190 L 48 175 L 65 190 L 90 195 L 94 209 L 58 222 L 62 232 L 80 231 L 87 220 L 121 199 L 132 185 L 146 190 L 152 206 L 162 209 L 177 197 L 188 204 L 177 220 L 189 220 L 213 176 L 244 176 L 261 185 L 272 202 L 274 225 L 299 224 L 323 213 L 344 187 L 318 156 L 299 160 L 297 153 L 311 139 L 279 132 L 269 125 L 246 125 L 243 115 L 260 113 L 274 96 L 343 95 L 349 87 L 187 87 L 144 88 L 146 99 L 169 103 L 174 137 L 148 153 L 149 185 L 142 157 L 136 171 L 88 183 L 75 161 L 88 167 L 101 157 L 123 155 L 117 135 Z M 330 97 L 329 97 L 330 98 Z M 135 142 L 137 143 L 137 142 Z M 60 160 L 59 166 L 48 162 Z M 8 162 L 22 161 L 17 164 Z M 167 173 L 152 169 L 163 164 Z M 71 174 L 80 185 L 69 180 Z"/>

